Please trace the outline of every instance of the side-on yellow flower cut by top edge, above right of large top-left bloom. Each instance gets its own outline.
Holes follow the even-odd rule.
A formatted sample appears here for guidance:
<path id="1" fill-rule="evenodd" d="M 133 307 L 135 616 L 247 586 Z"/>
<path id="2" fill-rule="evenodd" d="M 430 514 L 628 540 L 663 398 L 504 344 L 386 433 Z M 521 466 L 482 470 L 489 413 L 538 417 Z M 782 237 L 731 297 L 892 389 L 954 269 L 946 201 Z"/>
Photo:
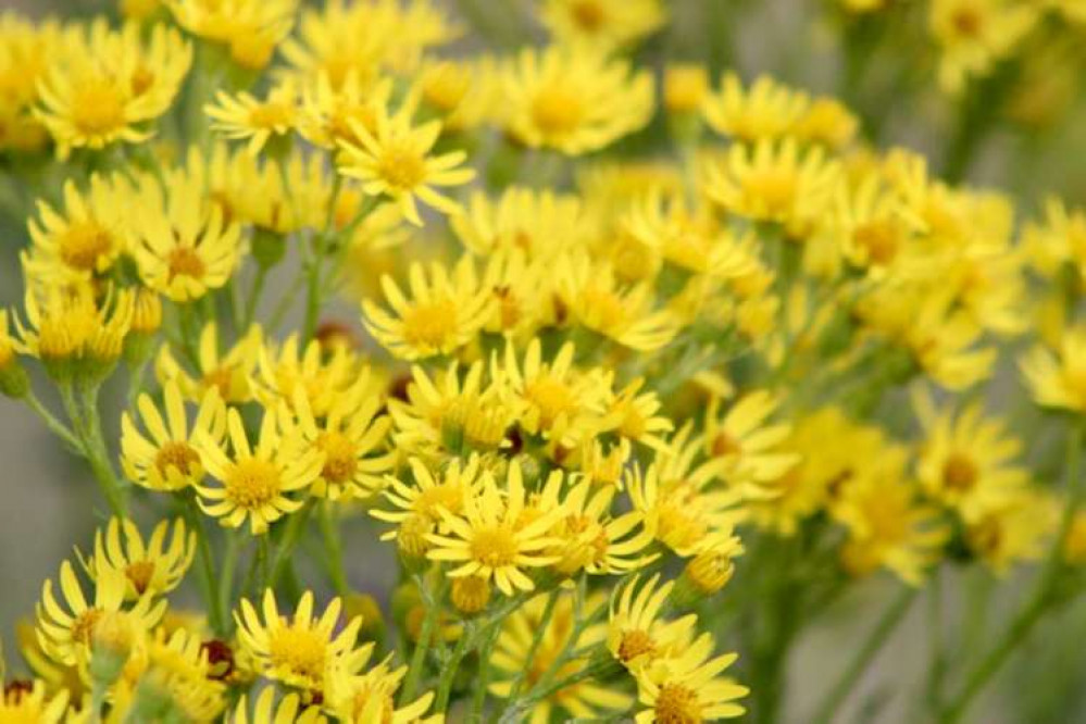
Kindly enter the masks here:
<path id="1" fill-rule="evenodd" d="M 290 33 L 298 0 L 163 0 L 177 24 L 224 45 L 238 65 L 260 70 Z"/>

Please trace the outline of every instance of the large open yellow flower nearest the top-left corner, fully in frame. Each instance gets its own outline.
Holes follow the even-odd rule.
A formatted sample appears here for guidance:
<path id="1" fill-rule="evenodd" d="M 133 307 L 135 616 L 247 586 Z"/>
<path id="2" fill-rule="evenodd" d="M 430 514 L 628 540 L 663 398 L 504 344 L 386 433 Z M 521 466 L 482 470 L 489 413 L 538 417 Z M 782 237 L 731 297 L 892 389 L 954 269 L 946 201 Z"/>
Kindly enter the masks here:
<path id="1" fill-rule="evenodd" d="M 65 37 L 41 79 L 35 111 L 58 154 L 150 138 L 147 123 L 173 104 L 192 62 L 191 46 L 165 25 L 143 40 L 137 23 L 115 32 L 103 18 Z"/>

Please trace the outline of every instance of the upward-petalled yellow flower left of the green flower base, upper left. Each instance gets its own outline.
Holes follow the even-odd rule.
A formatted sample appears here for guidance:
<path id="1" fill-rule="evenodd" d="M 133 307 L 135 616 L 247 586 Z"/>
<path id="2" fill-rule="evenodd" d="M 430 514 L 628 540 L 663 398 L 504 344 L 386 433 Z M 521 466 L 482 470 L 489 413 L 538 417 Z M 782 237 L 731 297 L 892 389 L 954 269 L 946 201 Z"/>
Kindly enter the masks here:
<path id="1" fill-rule="evenodd" d="M 240 226 L 207 203 L 201 182 L 183 171 L 168 173 L 164 184 L 145 176 L 136 207 L 132 251 L 140 279 L 175 302 L 226 284 L 241 252 Z"/>

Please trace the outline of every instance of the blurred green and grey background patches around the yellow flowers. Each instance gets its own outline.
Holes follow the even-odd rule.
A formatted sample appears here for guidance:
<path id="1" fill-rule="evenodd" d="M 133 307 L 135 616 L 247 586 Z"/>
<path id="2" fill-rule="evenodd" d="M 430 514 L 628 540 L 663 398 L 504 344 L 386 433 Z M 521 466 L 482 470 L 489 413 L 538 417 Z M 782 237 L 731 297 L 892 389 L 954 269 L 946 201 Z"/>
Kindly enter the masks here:
<path id="1" fill-rule="evenodd" d="M 507 23 L 530 0 L 449 0 L 450 12 L 472 28 L 465 42 L 478 43 L 479 26 Z M 714 70 L 736 67 L 747 78 L 760 72 L 812 92 L 834 93 L 847 103 L 849 88 L 842 87 L 841 53 L 835 35 L 824 20 L 831 0 L 673 0 L 671 28 L 645 51 L 644 61 L 660 64 L 662 58 L 700 60 Z M 112 3 L 91 0 L 0 0 L 0 10 L 18 11 L 33 16 L 58 12 L 64 16 L 88 14 Z M 719 41 L 723 29 L 731 27 L 731 43 Z M 737 29 L 738 28 L 738 29 Z M 486 27 L 492 30 L 492 27 Z M 475 34 L 475 37 L 471 37 Z M 885 48 L 884 48 L 884 53 Z M 885 55 L 873 54 L 877 79 L 878 63 Z M 924 62 L 923 54 L 915 62 Z M 927 59 L 927 62 L 934 62 Z M 852 89 L 853 92 L 856 89 Z M 1074 93 L 1064 120 L 1057 125 L 1028 133 L 997 134 L 978 153 L 968 177 L 976 183 L 994 184 L 1013 192 L 1028 208 L 1047 192 L 1056 191 L 1071 203 L 1081 203 L 1086 189 L 1086 95 Z M 860 109 L 861 112 L 864 109 Z M 879 125 L 881 145 L 907 143 L 938 158 L 945 149 L 953 111 L 935 92 L 919 93 L 908 102 L 891 102 L 878 109 L 886 123 Z M 1016 167 L 1018 173 L 1009 170 Z M 2 168 L 0 168 L 2 173 Z M 17 278 L 17 250 L 26 241 L 25 224 L 0 222 L 0 305 L 17 302 L 22 296 Z M 108 421 L 109 422 L 109 421 Z M 112 420 L 116 427 L 116 415 Z M 116 436 L 107 430 L 107 439 Z M 33 615 L 40 592 L 40 582 L 54 575 L 58 563 L 71 552 L 72 545 L 87 546 L 90 533 L 100 523 L 102 504 L 97 488 L 84 473 L 79 461 L 67 455 L 45 427 L 29 412 L 0 399 L 0 638 L 11 641 L 11 623 Z M 88 515 L 95 511 L 95 515 Z M 361 525 L 361 524 L 360 524 Z M 365 529 L 351 530 L 359 550 L 362 539 L 367 558 L 349 558 L 351 583 L 375 592 L 387 591 L 389 567 L 372 559 L 375 537 Z M 382 553 L 388 552 L 384 547 Z M 737 579 L 733 586 L 741 586 Z M 947 610 L 961 610 L 961 591 L 970 586 L 952 577 L 945 581 Z M 979 585 L 974 582 L 971 585 Z M 820 685 L 842 665 L 842 658 L 882 611 L 874 599 L 884 596 L 877 582 L 861 586 L 850 598 L 840 601 L 814 626 L 792 659 L 789 687 L 789 721 L 800 721 L 804 711 L 821 694 Z M 926 603 L 925 603 L 926 604 Z M 908 722 L 907 706 L 911 692 L 925 685 L 926 640 L 937 632 L 927 629 L 925 604 L 916 604 L 911 620 L 879 658 L 879 665 L 864 683 L 864 692 L 854 697 L 852 710 L 841 721 Z M 995 617 L 996 611 L 988 615 Z M 944 616 L 948 626 L 965 622 Z M 862 640 L 862 639 L 861 639 Z M 1081 604 L 1052 616 L 1038 629 L 1023 654 L 1018 656 L 994 684 L 983 706 L 974 711 L 975 722 L 1036 722 L 1064 724 L 1086 722 L 1086 714 L 1075 717 L 1068 712 L 1083 711 L 1084 677 L 1082 641 L 1086 640 L 1086 608 Z M 12 647 L 8 645 L 9 656 Z M 921 675 L 921 678 L 918 678 Z M 1044 678 L 1044 688 L 1054 692 L 1062 704 L 1036 699 L 1031 682 Z M 889 700 L 877 715 L 866 715 L 864 703 Z M 1047 713 L 1041 710 L 1047 710 Z M 1061 712 L 1053 715 L 1052 711 Z M 897 712 L 891 715 L 889 712 Z"/>

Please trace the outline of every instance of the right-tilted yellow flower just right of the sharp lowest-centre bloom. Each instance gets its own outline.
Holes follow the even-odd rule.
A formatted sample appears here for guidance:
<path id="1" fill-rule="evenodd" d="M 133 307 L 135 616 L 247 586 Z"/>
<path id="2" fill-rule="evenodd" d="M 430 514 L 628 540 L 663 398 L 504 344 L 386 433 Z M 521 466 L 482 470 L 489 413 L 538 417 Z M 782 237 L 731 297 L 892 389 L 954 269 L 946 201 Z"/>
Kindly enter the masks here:
<path id="1" fill-rule="evenodd" d="M 561 486 L 562 476 L 548 480 Z M 565 576 L 581 571 L 596 575 L 621 574 L 634 571 L 654 560 L 657 553 L 644 551 L 652 544 L 652 535 L 637 529 L 641 517 L 636 512 L 611 515 L 614 500 L 613 487 L 599 487 L 589 479 L 573 485 L 562 498 L 564 515 L 558 520 L 550 534 L 561 542 L 547 552 L 561 558 L 554 570 Z M 547 491 L 544 491 L 547 495 Z"/>

